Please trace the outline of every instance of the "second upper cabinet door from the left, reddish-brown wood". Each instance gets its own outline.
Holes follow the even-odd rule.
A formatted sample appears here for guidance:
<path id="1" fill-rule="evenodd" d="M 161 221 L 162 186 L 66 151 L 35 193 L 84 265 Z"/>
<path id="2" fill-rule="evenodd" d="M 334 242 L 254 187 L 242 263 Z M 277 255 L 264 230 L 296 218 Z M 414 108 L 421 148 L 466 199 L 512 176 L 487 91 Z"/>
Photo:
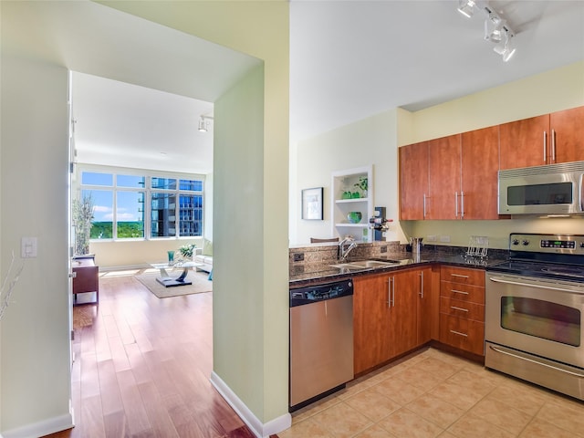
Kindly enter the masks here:
<path id="1" fill-rule="evenodd" d="M 460 217 L 461 149 L 460 134 L 428 141 L 428 190 L 426 219 L 457 219 Z"/>

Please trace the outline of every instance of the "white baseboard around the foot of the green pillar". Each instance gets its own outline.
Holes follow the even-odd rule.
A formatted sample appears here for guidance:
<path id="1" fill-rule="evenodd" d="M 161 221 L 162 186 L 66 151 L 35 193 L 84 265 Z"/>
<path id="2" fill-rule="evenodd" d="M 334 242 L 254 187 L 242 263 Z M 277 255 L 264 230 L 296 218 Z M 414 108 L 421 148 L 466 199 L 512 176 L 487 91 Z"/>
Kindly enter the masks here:
<path id="1" fill-rule="evenodd" d="M 211 383 L 258 438 L 267 438 L 274 433 L 285 431 L 292 425 L 292 416 L 289 413 L 270 422 L 260 422 L 254 412 L 251 412 L 235 392 L 231 391 L 231 388 L 214 372 L 211 373 Z"/>

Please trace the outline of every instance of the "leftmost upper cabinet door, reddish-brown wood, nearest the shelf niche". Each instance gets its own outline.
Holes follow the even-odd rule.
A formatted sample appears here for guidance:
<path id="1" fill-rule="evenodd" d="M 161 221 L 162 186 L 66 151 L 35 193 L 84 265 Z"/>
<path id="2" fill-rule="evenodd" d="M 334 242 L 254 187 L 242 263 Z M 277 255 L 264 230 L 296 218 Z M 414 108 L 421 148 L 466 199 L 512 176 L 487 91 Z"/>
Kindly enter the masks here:
<path id="1" fill-rule="evenodd" d="M 424 196 L 428 194 L 428 142 L 402 146 L 400 154 L 400 219 L 424 218 Z"/>

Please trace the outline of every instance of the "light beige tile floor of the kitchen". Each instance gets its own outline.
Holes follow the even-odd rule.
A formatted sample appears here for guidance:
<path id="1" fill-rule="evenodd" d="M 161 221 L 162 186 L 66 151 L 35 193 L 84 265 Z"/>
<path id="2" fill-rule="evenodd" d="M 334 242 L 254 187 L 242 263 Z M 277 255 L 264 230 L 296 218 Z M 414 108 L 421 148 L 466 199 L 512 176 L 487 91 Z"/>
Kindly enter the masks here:
<path id="1" fill-rule="evenodd" d="M 279 438 L 584 438 L 584 402 L 424 349 L 292 414 Z"/>

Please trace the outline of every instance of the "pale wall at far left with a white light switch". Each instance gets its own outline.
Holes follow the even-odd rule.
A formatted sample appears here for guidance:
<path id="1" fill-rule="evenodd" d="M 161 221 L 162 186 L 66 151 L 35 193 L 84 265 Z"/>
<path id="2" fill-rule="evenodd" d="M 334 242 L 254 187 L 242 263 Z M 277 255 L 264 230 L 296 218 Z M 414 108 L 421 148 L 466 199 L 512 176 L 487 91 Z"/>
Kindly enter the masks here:
<path id="1" fill-rule="evenodd" d="M 68 295 L 68 70 L 2 53 L 2 277 L 36 236 L 2 320 L 2 431 L 72 424 Z"/>

